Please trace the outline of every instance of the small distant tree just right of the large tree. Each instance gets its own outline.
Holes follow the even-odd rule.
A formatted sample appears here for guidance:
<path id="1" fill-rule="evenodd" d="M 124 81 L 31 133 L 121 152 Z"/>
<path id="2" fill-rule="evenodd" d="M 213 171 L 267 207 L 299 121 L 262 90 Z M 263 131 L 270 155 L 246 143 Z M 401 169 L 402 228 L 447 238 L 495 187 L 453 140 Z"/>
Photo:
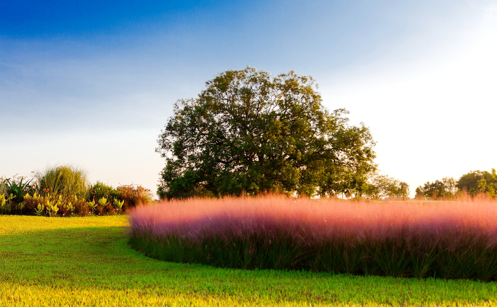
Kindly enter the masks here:
<path id="1" fill-rule="evenodd" d="M 373 174 L 365 185 L 362 196 L 370 199 L 409 197 L 409 185 L 386 175 Z"/>

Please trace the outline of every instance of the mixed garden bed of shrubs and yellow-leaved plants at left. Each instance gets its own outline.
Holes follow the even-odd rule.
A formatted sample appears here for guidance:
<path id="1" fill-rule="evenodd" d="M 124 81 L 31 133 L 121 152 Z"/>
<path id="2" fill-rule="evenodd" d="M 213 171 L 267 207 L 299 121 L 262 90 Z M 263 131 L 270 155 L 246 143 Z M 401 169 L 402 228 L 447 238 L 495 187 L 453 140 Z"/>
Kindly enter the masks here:
<path id="1" fill-rule="evenodd" d="M 32 183 L 34 179 L 39 180 L 38 185 Z M 113 215 L 152 201 L 150 190 L 139 185 L 114 189 L 97 181 L 87 188 L 86 172 L 72 166 L 49 167 L 29 181 L 2 177 L 0 191 L 0 214 Z"/>

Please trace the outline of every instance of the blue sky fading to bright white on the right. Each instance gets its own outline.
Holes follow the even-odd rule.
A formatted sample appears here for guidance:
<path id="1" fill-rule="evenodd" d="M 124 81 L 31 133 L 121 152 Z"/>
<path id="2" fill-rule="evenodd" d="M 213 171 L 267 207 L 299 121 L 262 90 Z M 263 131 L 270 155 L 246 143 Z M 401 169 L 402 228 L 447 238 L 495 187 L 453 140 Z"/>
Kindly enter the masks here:
<path id="1" fill-rule="evenodd" d="M 176 100 L 247 65 L 347 109 L 383 174 L 497 168 L 497 2 L 0 0 L 0 176 L 73 164 L 157 189 Z"/>

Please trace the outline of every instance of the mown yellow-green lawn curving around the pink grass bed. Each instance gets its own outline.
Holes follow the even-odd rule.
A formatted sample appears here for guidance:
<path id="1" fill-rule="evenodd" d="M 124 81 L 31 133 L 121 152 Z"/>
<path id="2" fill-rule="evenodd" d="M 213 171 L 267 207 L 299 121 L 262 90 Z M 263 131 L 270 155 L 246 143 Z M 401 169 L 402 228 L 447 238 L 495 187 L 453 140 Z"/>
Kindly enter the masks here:
<path id="1" fill-rule="evenodd" d="M 0 216 L 0 306 L 496 305 L 497 283 L 243 271 L 145 257 L 126 216 Z"/>

